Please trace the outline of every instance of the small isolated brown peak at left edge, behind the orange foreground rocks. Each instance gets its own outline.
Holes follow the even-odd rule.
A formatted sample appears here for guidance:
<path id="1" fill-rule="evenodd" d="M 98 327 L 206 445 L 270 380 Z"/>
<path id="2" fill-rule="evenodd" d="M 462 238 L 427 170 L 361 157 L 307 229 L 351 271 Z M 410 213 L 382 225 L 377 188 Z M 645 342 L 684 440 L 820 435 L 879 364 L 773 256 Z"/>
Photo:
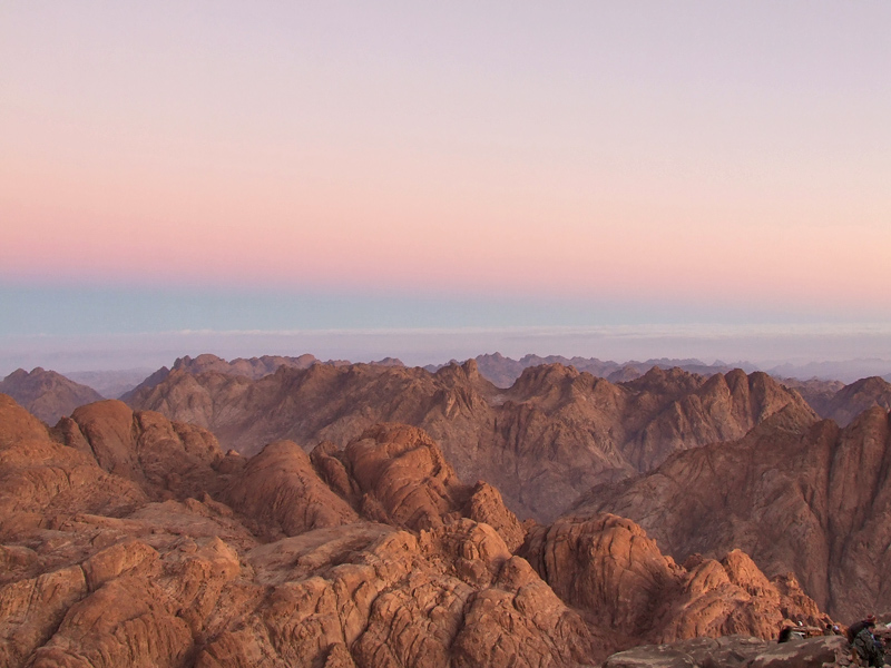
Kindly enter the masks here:
<path id="1" fill-rule="evenodd" d="M 0 382 L 0 392 L 49 424 L 56 424 L 59 418 L 70 415 L 78 406 L 102 399 L 92 387 L 39 366 L 30 373 L 23 369 L 13 371 Z"/>

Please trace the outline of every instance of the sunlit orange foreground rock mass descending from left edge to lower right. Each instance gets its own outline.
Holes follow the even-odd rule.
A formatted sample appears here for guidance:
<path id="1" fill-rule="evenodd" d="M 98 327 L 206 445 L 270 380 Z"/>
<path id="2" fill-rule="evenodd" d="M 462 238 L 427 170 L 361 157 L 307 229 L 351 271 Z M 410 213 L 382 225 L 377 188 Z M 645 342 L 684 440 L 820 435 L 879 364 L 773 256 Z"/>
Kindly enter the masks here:
<path id="1" fill-rule="evenodd" d="M 0 482 L 10 668 L 580 667 L 828 620 L 738 551 L 681 567 L 620 518 L 522 527 L 407 425 L 245 459 L 120 402 L 48 430 L 0 395 Z"/>

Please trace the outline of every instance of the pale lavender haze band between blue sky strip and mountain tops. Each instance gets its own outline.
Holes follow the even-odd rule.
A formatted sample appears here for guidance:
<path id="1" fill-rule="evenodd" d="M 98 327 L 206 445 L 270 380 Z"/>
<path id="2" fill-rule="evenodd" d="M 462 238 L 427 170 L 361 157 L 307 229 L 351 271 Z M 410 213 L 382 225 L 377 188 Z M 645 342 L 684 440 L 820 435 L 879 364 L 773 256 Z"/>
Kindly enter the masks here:
<path id="1" fill-rule="evenodd" d="M 785 366 L 802 380 L 811 376 L 853 380 L 891 374 L 887 341 L 891 327 L 844 326 L 605 326 L 442 330 L 322 330 L 303 332 L 164 332 L 92 336 L 7 337 L 0 377 L 36 366 L 59 373 L 154 371 L 177 357 L 203 353 L 226 360 L 262 355 L 322 361 L 371 362 L 398 357 L 409 366 L 444 364 L 499 352 L 518 360 L 598 357 L 625 363 L 648 360 L 699 360 L 772 371 Z M 802 354 L 802 351 L 809 351 Z M 822 353 L 822 355 L 821 355 Z M 148 375 L 148 374 L 146 374 Z"/>

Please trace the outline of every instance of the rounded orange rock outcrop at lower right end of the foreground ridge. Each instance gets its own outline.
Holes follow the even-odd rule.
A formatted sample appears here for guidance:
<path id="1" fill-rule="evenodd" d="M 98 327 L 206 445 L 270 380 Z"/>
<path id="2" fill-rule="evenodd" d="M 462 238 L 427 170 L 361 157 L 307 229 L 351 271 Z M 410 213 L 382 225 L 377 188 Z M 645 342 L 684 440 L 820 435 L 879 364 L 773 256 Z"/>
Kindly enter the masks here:
<path id="1" fill-rule="evenodd" d="M 616 515 L 537 527 L 520 554 L 562 600 L 626 647 L 699 636 L 772 638 L 789 619 L 825 622 L 794 580 L 768 581 L 740 550 L 681 567 L 640 527 Z"/>

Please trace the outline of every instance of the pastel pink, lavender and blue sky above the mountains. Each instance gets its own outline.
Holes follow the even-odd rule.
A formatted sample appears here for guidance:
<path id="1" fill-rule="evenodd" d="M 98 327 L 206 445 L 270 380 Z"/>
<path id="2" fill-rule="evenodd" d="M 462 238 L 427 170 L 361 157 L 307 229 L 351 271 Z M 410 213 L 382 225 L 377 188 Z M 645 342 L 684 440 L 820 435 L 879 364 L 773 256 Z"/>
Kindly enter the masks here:
<path id="1" fill-rule="evenodd" d="M 878 0 L 6 0 L 0 372 L 891 360 L 889 29 Z"/>

